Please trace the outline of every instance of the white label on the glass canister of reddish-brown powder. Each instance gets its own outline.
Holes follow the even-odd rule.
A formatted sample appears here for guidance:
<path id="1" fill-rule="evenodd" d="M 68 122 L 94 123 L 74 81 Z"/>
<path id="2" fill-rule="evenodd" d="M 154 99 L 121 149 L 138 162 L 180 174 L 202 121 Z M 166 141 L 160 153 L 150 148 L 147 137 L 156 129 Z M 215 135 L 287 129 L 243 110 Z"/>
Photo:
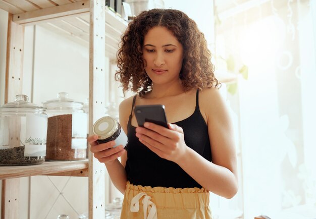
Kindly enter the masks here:
<path id="1" fill-rule="evenodd" d="M 87 114 L 72 114 L 72 139 L 71 148 L 87 148 Z"/>

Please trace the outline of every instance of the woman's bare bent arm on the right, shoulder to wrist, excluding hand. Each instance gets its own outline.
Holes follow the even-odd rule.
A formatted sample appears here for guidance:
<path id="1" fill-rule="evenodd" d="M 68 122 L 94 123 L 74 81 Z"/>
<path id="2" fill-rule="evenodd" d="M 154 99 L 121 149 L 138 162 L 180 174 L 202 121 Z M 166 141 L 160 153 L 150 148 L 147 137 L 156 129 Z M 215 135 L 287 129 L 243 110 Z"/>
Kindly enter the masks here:
<path id="1" fill-rule="evenodd" d="M 187 148 L 186 155 L 178 161 L 178 165 L 204 188 L 220 196 L 232 198 L 238 191 L 238 176 L 230 115 L 217 88 L 201 92 L 199 99 L 201 112 L 207 121 L 212 163 Z"/>

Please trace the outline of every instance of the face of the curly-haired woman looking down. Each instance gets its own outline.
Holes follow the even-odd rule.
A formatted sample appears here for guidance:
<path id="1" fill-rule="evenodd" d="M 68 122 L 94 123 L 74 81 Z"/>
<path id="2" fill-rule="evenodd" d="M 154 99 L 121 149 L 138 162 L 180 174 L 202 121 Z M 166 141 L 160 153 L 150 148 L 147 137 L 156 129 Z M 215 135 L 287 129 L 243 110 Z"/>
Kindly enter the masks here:
<path id="1" fill-rule="evenodd" d="M 179 81 L 183 47 L 166 27 L 153 27 L 144 37 L 145 70 L 154 84 Z"/>

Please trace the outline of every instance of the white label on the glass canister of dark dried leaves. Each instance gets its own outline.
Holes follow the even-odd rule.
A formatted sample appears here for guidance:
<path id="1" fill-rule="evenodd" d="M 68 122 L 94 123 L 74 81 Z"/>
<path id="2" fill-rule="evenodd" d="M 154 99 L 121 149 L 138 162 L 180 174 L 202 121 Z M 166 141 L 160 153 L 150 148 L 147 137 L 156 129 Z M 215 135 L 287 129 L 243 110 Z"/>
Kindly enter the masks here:
<path id="1" fill-rule="evenodd" d="M 45 156 L 47 116 L 44 114 L 28 114 L 26 115 L 25 127 L 24 156 Z"/>

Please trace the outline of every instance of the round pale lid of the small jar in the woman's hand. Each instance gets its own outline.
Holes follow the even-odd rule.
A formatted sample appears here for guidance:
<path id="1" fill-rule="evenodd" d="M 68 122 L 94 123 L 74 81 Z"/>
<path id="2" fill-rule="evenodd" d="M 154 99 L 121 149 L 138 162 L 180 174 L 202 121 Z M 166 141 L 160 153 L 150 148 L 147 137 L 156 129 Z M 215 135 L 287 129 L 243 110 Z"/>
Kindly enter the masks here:
<path id="1" fill-rule="evenodd" d="M 114 118 L 107 116 L 98 119 L 93 124 L 92 131 L 99 136 L 99 139 L 107 139 L 114 135 L 118 128 L 119 123 Z"/>

